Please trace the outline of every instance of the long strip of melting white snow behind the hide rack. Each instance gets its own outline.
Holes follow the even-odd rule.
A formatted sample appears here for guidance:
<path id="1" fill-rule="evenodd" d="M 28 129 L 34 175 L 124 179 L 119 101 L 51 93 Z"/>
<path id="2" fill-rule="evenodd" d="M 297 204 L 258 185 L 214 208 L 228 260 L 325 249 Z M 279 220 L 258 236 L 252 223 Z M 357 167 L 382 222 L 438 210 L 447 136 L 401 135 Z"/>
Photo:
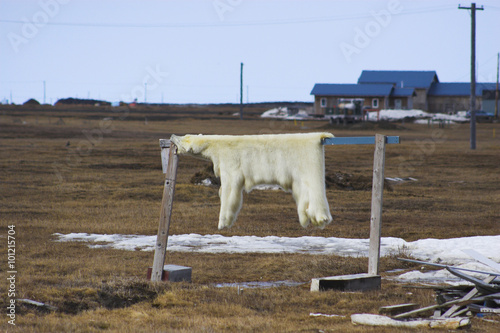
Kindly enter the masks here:
<path id="1" fill-rule="evenodd" d="M 156 236 L 102 235 L 87 233 L 55 234 L 60 242 L 87 242 L 90 248 L 113 248 L 129 251 L 153 251 Z M 168 251 L 201 253 L 305 253 L 335 254 L 366 257 L 368 239 L 336 237 L 257 237 L 184 234 L 168 238 Z M 478 263 L 462 250 L 474 249 L 495 262 L 500 262 L 500 236 L 476 236 L 451 239 L 420 239 L 406 242 L 401 238 L 383 237 L 381 256 L 407 254 L 418 260 L 453 265 L 455 267 L 495 272 L 493 268 Z M 459 280 L 446 270 L 411 271 L 395 277 L 404 281 L 448 282 Z M 499 272 L 500 273 L 500 272 Z M 481 274 L 472 274 L 483 277 Z"/>

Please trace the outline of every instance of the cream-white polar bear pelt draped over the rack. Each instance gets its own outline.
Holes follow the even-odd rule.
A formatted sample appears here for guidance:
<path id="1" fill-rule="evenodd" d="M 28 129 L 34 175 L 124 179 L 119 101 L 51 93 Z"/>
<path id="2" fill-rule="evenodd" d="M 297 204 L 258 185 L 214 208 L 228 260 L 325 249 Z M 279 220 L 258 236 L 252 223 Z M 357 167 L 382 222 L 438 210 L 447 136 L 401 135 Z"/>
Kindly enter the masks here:
<path id="1" fill-rule="evenodd" d="M 172 135 L 180 154 L 212 161 L 220 177 L 219 229 L 230 227 L 241 209 L 243 189 L 280 185 L 292 192 L 300 224 L 323 228 L 332 216 L 325 193 L 321 140 L 330 133 L 276 135 Z"/>

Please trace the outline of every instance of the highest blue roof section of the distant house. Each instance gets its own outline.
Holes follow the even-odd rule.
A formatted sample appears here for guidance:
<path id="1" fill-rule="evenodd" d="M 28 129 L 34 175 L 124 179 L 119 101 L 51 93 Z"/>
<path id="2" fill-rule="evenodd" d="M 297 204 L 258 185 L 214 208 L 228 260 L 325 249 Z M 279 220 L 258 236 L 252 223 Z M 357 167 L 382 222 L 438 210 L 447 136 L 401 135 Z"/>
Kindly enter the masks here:
<path id="1" fill-rule="evenodd" d="M 439 82 L 436 71 L 363 71 L 358 83 L 391 83 L 397 87 L 429 88 Z"/>

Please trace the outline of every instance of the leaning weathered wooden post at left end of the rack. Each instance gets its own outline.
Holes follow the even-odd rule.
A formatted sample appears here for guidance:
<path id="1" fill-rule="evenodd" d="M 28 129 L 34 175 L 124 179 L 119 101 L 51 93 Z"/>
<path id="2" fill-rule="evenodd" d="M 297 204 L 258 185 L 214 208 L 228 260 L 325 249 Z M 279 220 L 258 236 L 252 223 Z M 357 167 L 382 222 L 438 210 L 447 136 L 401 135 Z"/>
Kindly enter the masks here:
<path id="1" fill-rule="evenodd" d="M 161 281 L 165 255 L 167 252 L 168 229 L 172 216 L 172 204 L 174 201 L 175 180 L 177 177 L 177 146 L 170 140 L 160 140 L 162 149 L 162 167 L 165 172 L 165 187 L 163 188 L 163 198 L 161 202 L 160 223 L 158 226 L 158 236 L 156 238 L 155 256 L 151 272 L 151 281 Z M 165 152 L 165 153 L 164 153 Z M 165 157 L 168 156 L 165 166 Z"/>

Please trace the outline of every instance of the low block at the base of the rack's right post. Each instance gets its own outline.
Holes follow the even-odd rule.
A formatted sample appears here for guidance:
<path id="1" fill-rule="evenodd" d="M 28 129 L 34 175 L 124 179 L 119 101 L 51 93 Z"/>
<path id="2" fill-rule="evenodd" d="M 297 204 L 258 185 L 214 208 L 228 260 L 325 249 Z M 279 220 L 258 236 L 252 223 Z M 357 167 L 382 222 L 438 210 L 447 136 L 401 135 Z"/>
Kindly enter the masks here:
<path id="1" fill-rule="evenodd" d="M 380 289 L 380 275 L 352 274 L 312 279 L 311 291 L 329 289 L 342 291 L 368 291 Z"/>

